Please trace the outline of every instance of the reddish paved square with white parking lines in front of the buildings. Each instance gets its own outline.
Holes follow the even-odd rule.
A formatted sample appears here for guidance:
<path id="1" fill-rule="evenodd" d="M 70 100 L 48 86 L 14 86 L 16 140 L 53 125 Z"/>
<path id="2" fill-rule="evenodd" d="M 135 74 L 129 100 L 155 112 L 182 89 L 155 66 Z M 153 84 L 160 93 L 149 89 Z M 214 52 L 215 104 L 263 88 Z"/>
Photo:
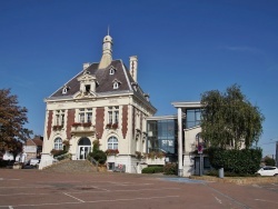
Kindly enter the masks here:
<path id="1" fill-rule="evenodd" d="M 0 208 L 278 208 L 278 183 L 237 186 L 115 172 L 0 170 Z"/>

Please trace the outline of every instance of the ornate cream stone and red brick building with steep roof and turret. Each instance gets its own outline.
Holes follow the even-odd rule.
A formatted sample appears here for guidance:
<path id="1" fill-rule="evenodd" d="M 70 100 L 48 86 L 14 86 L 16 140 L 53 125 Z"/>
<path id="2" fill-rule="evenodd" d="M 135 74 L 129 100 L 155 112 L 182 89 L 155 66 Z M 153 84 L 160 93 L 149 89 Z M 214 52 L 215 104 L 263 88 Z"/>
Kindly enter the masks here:
<path id="1" fill-rule="evenodd" d="M 156 108 L 137 81 L 138 58 L 129 68 L 112 59 L 112 38 L 103 38 L 100 62 L 83 63 L 71 80 L 46 98 L 43 150 L 40 169 L 53 162 L 52 151 L 69 145 L 72 160 L 83 160 L 99 140 L 108 169 L 125 165 L 137 172 L 138 153 L 147 152 L 147 118 Z"/>

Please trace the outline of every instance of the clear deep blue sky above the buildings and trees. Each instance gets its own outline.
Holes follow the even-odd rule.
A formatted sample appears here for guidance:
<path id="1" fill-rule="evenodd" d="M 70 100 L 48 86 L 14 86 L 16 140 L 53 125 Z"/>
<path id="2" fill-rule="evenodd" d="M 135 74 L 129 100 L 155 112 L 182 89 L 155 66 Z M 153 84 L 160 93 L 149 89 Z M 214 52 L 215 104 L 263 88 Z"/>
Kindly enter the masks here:
<path id="1" fill-rule="evenodd" d="M 0 88 L 11 88 L 43 135 L 43 99 L 99 62 L 108 26 L 113 59 L 138 56 L 138 82 L 157 116 L 172 101 L 237 83 L 266 117 L 259 145 L 278 140 L 278 1 L 0 0 Z"/>

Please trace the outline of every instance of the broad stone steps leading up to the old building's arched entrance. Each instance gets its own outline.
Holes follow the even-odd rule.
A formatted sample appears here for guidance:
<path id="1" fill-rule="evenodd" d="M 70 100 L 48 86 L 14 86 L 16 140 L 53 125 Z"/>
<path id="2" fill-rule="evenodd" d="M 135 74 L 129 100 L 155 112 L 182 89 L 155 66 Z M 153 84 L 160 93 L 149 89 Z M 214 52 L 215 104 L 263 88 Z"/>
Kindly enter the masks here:
<path id="1" fill-rule="evenodd" d="M 88 160 L 61 160 L 50 167 L 44 168 L 46 171 L 52 172 L 97 172 L 95 167 Z"/>

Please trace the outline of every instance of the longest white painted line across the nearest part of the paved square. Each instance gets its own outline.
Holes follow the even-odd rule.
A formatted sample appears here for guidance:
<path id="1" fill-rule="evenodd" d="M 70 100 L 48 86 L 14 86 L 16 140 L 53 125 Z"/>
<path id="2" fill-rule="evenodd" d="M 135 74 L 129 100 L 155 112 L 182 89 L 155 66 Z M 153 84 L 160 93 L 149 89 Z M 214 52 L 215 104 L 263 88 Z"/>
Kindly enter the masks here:
<path id="1" fill-rule="evenodd" d="M 98 202 L 115 202 L 115 201 L 151 200 L 151 199 L 165 199 L 165 198 L 180 198 L 180 196 L 156 196 L 156 197 L 148 197 L 148 198 L 129 198 L 129 199 L 125 198 L 125 199 L 109 199 L 109 200 L 93 200 L 93 201 L 83 201 L 83 200 L 81 200 L 81 201 L 78 201 L 78 202 L 75 201 L 75 202 L 59 202 L 59 203 L 14 205 L 13 207 L 61 206 L 61 205 L 77 205 L 77 203 L 98 203 Z M 12 206 L 0 206 L 0 208 L 7 208 L 7 207 L 12 207 Z"/>

